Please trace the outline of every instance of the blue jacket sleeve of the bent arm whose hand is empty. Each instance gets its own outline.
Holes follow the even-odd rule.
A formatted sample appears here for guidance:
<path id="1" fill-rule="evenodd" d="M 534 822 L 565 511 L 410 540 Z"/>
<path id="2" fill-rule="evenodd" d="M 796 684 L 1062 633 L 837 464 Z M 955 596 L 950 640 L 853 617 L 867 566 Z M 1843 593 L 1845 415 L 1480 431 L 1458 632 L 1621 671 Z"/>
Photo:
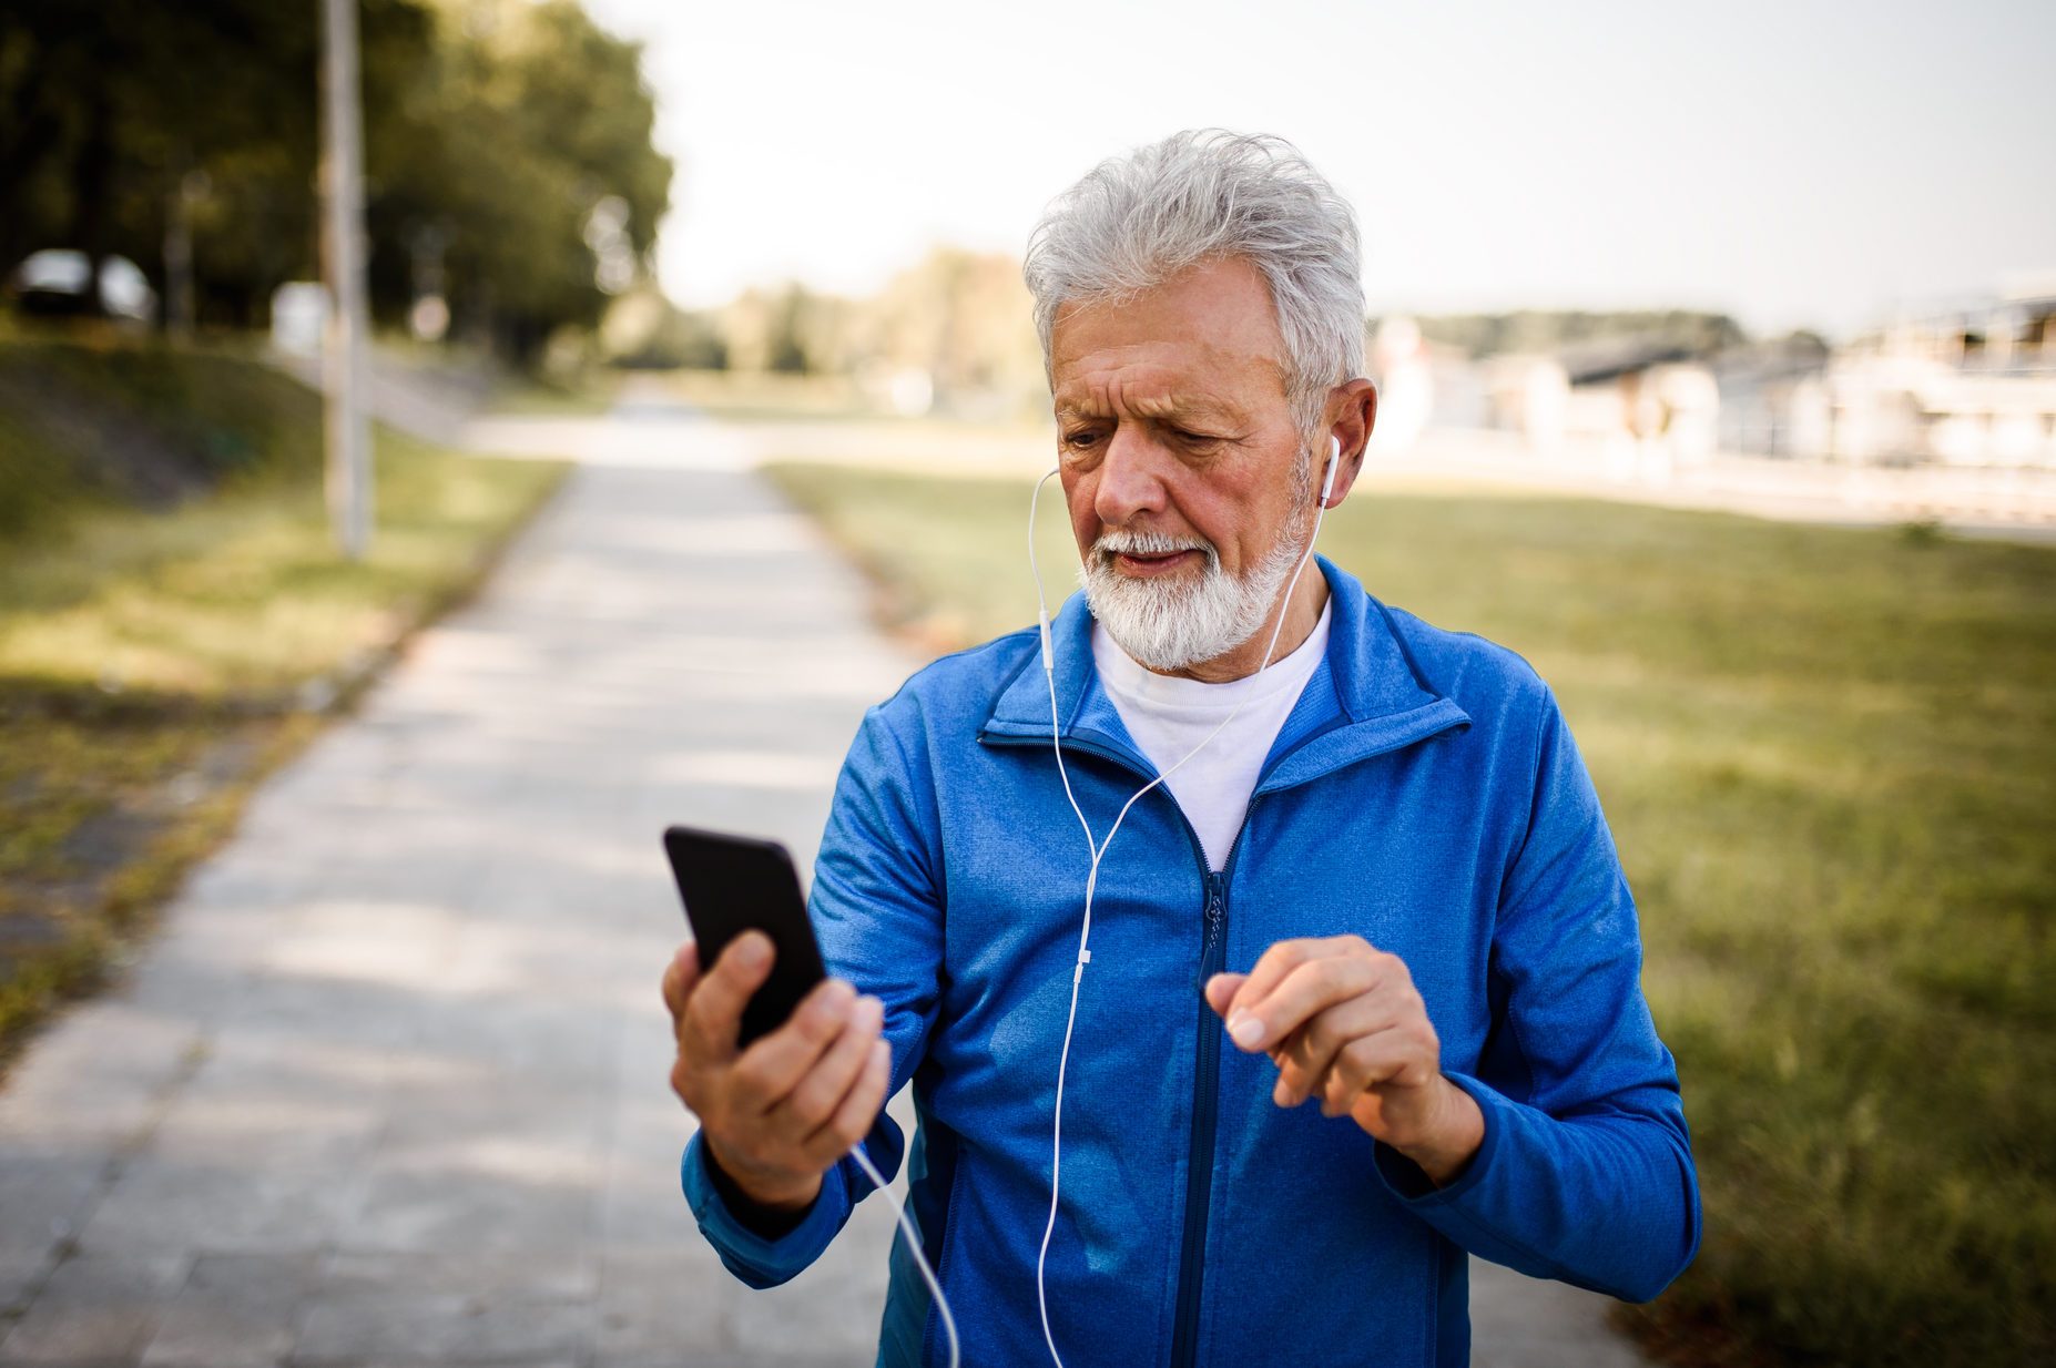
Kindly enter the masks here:
<path id="1" fill-rule="evenodd" d="M 1441 1189 L 1378 1146 L 1392 1193 L 1534 1278 L 1649 1300 L 1682 1274 L 1698 1251 L 1698 1177 L 1641 963 L 1612 832 L 1544 688 L 1528 830 L 1493 935 L 1491 1035 L 1478 1076 L 1445 1070 L 1484 1113 L 1484 1142 Z"/>

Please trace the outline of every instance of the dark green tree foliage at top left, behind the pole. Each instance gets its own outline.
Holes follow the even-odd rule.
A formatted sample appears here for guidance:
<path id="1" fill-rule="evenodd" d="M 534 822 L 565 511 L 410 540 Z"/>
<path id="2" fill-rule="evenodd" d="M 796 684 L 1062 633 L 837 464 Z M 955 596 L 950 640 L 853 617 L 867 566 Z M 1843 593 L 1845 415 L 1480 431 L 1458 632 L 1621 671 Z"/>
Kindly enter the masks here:
<path id="1" fill-rule="evenodd" d="M 670 197 L 639 45 L 574 0 L 360 0 L 360 33 L 374 314 L 436 288 L 516 357 L 592 325 Z M 319 267 L 319 39 L 310 0 L 10 0 L 0 269 L 123 255 L 162 298 L 183 212 L 199 318 L 261 327 Z"/>

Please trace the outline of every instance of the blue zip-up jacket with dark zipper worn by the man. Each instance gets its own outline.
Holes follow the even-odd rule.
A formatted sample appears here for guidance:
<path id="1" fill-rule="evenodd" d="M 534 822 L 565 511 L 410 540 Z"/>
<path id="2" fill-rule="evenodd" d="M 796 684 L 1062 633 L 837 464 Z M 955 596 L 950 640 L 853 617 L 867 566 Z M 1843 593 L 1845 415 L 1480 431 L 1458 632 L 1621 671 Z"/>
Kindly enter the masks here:
<path id="1" fill-rule="evenodd" d="M 1219 873 L 1166 789 L 1100 869 L 1063 1105 L 1051 1329 L 1069 1368 L 1464 1364 L 1464 1253 L 1628 1300 L 1698 1249 L 1678 1072 L 1641 992 L 1635 900 L 1571 731 L 1513 651 L 1378 602 L 1328 559 L 1334 616 Z M 1053 622 L 1065 764 L 1104 836 L 1155 776 Z M 1051 754 L 1036 631 L 940 659 L 866 713 L 814 867 L 831 974 L 884 998 L 913 1080 L 909 1179 L 964 1364 L 1049 1362 L 1036 1247 L 1090 857 Z M 1349 1117 L 1271 1101 L 1201 984 L 1277 941 L 1355 933 L 1412 972 L 1441 1068 L 1484 1113 L 1447 1187 Z M 882 1173 L 901 1132 L 866 1142 Z M 750 1286 L 796 1276 L 870 1191 L 845 1158 L 777 1239 L 685 1191 Z M 880 1364 L 944 1364 L 903 1247 Z"/>

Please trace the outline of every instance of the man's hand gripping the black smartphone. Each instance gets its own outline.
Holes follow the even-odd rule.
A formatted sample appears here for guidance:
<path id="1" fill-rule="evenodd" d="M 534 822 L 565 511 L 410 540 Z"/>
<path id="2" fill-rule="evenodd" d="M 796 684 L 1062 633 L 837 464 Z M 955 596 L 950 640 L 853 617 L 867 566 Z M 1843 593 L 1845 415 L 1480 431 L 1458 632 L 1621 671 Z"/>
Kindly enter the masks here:
<path id="1" fill-rule="evenodd" d="M 870 1134 L 892 1080 L 884 1004 L 822 980 L 779 1029 L 736 1050 L 742 1009 L 771 976 L 771 937 L 746 930 L 701 970 L 693 943 L 664 970 L 678 1058 L 670 1087 L 707 1154 L 750 1202 L 806 1210 L 820 1175 Z"/>

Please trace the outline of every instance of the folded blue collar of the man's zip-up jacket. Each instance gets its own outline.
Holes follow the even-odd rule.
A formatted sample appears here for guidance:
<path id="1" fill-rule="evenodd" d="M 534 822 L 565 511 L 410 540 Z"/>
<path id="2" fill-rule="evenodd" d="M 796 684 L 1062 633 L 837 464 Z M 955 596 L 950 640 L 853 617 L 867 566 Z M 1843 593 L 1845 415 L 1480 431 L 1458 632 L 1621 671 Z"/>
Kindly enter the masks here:
<path id="1" fill-rule="evenodd" d="M 1332 616 L 1328 655 L 1316 668 L 1285 727 L 1279 731 L 1256 791 L 1306 783 L 1357 760 L 1412 746 L 1470 715 L 1421 674 L 1400 641 L 1386 606 L 1355 575 L 1316 555 L 1328 581 Z M 1057 659 L 1057 719 L 1065 744 L 1123 752 L 1145 774 L 1155 768 L 1141 756 L 1092 663 L 1092 610 L 1077 592 L 1049 624 Z M 1030 651 L 1022 670 L 993 702 L 979 739 L 1038 739 L 1049 744 L 1049 684 L 1042 653 Z"/>

